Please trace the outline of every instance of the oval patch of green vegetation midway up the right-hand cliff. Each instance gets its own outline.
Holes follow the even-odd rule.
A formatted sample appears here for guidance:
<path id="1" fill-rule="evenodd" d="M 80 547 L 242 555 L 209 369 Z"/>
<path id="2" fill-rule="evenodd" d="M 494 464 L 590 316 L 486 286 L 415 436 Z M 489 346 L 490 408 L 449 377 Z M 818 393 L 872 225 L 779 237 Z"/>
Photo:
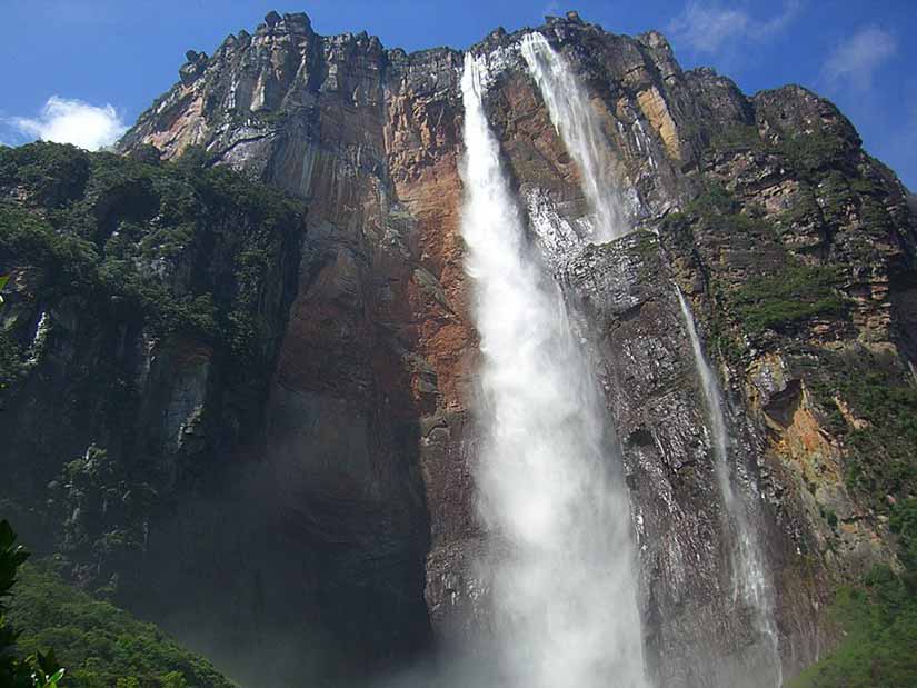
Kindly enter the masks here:
<path id="1" fill-rule="evenodd" d="M 754 277 L 730 297 L 750 333 L 787 330 L 811 318 L 840 318 L 847 301 L 837 291 L 837 270 L 788 263 L 777 272 Z"/>

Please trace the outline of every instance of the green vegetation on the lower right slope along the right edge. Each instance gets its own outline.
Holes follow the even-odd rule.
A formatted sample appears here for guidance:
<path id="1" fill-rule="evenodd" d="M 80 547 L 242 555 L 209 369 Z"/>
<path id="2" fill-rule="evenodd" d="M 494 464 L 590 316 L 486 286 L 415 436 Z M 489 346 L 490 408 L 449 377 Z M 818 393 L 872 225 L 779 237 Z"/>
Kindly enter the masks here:
<path id="1" fill-rule="evenodd" d="M 887 512 L 901 570 L 877 567 L 841 588 L 831 617 L 845 632 L 838 649 L 787 688 L 917 685 L 917 389 L 891 353 L 863 348 L 818 351 L 805 372 L 827 425 L 846 448 L 847 487 Z M 831 513 L 827 513 L 829 522 Z M 835 517 L 836 518 L 836 517 Z"/>

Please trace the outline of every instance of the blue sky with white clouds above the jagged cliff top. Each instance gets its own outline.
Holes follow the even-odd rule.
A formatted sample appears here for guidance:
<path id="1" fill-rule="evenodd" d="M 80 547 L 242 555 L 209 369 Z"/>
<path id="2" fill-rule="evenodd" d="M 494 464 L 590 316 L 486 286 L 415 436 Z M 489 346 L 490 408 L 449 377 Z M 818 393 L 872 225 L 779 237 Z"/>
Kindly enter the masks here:
<path id="1" fill-rule="evenodd" d="M 569 9 L 615 33 L 656 29 L 682 68 L 714 67 L 746 93 L 800 83 L 829 98 L 917 190 L 917 0 L 0 0 L 0 143 L 108 146 L 177 81 L 186 50 L 212 53 L 272 9 L 409 51 Z"/>

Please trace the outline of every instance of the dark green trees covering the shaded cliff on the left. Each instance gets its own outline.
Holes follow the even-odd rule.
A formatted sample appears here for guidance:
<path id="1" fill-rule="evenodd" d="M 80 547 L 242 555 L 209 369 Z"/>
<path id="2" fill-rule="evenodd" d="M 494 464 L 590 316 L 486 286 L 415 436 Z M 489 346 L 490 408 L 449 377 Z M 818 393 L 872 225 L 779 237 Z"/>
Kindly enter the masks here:
<path id="1" fill-rule="evenodd" d="M 153 150 L 0 148 L 0 268 L 14 266 L 17 283 L 0 307 L 0 406 L 34 382 L 37 397 L 67 397 L 52 422 L 86 438 L 74 455 L 54 440 L 27 457 L 21 475 L 47 491 L 21 498 L 13 485 L 3 498 L 9 512 L 43 519 L 96 587 L 118 584 L 111 574 L 178 485 L 206 479 L 223 449 L 211 441 L 217 428 L 227 437 L 256 427 L 293 297 L 302 205 L 207 162 L 197 150 L 162 163 Z M 68 349 L 67 370 L 38 375 L 57 346 Z M 151 380 L 138 375 L 141 351 Z M 186 351 L 200 352 L 188 366 L 203 361 L 215 400 L 192 419 L 200 435 L 168 462 L 141 386 L 165 388 L 152 363 Z M 40 432 L 41 413 L 30 418 Z M 94 438 L 101 448 L 77 457 Z"/>

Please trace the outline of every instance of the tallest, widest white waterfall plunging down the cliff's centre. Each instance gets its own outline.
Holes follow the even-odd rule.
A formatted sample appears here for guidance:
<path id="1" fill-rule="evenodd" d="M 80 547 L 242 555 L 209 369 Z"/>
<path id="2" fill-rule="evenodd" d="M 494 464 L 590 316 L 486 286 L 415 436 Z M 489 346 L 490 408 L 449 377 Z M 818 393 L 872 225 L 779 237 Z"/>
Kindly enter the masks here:
<path id="1" fill-rule="evenodd" d="M 480 515 L 510 687 L 642 688 L 630 511 L 609 465 L 595 376 L 562 295 L 527 245 L 465 58 L 461 231 L 481 343 Z"/>

